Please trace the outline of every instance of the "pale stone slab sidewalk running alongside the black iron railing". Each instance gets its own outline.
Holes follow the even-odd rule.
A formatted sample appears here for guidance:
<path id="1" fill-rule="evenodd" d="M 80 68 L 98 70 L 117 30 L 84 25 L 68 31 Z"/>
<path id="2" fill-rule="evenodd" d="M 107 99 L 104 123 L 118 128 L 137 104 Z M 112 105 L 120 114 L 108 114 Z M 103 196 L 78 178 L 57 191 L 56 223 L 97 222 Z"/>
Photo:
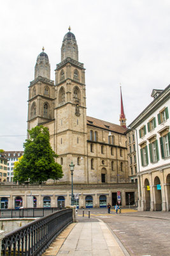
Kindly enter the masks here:
<path id="1" fill-rule="evenodd" d="M 64 239 L 63 233 L 68 233 Z M 69 230 L 68 230 L 69 229 Z M 128 256 L 118 239 L 103 221 L 72 223 L 60 234 L 43 256 Z M 61 246 L 62 245 L 62 246 Z"/>

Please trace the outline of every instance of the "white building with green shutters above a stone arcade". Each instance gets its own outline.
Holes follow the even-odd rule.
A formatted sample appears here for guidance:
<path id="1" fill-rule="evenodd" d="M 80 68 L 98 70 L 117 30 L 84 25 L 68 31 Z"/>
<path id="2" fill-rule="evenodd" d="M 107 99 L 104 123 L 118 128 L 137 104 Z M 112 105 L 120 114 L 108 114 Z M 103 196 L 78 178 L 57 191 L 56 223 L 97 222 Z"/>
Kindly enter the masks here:
<path id="1" fill-rule="evenodd" d="M 138 211 L 170 211 L 170 85 L 129 125 L 136 135 Z"/>

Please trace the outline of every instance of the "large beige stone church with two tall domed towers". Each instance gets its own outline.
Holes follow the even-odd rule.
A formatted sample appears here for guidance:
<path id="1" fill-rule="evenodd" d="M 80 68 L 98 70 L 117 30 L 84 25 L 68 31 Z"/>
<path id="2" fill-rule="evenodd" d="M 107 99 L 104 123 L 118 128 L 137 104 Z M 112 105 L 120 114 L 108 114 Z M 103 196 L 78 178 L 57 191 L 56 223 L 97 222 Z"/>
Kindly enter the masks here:
<path id="1" fill-rule="evenodd" d="M 118 176 L 127 182 L 124 111 L 121 110 L 121 125 L 87 116 L 85 68 L 78 61 L 78 45 L 70 27 L 62 41 L 55 83 L 50 80 L 50 63 L 44 48 L 36 60 L 34 74 L 29 86 L 27 128 L 48 127 L 50 144 L 59 155 L 57 162 L 64 172 L 59 182 L 71 181 L 71 161 L 74 183 L 116 183 Z"/>

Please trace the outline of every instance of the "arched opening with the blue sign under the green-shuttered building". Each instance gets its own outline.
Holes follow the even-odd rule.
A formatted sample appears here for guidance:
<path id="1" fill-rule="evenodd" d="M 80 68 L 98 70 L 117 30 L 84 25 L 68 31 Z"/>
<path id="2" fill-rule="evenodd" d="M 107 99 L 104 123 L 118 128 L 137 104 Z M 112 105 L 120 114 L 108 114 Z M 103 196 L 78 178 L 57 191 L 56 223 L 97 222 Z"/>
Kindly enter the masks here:
<path id="1" fill-rule="evenodd" d="M 159 177 L 154 179 L 154 191 L 155 191 L 155 211 L 162 211 L 162 194 Z"/>

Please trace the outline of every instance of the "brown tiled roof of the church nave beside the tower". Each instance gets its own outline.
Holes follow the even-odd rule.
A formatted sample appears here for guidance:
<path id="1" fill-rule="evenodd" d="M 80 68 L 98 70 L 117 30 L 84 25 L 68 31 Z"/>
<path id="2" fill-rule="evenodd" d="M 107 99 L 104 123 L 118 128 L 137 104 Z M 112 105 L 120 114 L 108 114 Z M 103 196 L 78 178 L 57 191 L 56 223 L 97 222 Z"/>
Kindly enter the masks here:
<path id="1" fill-rule="evenodd" d="M 110 122 L 106 122 L 91 116 L 87 116 L 87 125 L 94 125 L 99 128 L 106 129 L 108 131 L 118 132 L 124 134 L 127 131 L 126 128 L 122 127 L 121 125 L 112 124 Z"/>

